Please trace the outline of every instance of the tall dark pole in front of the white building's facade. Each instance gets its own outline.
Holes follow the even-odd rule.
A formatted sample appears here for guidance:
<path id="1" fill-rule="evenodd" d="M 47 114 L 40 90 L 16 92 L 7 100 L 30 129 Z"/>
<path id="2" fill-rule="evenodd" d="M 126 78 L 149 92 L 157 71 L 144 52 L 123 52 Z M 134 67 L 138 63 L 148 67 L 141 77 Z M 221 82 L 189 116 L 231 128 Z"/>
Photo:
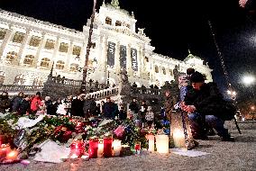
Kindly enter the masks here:
<path id="1" fill-rule="evenodd" d="M 83 69 L 83 81 L 81 85 L 81 90 L 85 91 L 86 90 L 86 79 L 87 79 L 87 70 L 88 70 L 88 58 L 90 54 L 90 48 L 92 45 L 92 33 L 94 29 L 94 20 L 95 20 L 95 12 L 96 12 L 96 0 L 94 0 L 94 5 L 93 5 L 93 14 L 91 16 L 91 23 L 90 23 L 90 28 L 89 28 L 89 35 L 88 35 L 88 42 L 87 42 L 87 54 L 86 54 L 86 61 L 85 61 L 85 67 Z"/>

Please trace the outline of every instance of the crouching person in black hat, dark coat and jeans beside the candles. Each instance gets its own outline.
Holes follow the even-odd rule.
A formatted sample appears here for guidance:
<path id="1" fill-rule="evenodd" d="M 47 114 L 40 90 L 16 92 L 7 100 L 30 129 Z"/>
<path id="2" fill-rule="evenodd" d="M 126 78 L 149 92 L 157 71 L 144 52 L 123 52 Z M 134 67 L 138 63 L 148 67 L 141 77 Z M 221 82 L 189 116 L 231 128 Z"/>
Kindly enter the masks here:
<path id="1" fill-rule="evenodd" d="M 224 141 L 233 141 L 224 128 L 224 97 L 215 83 L 205 83 L 206 77 L 199 72 L 190 76 L 193 89 L 187 92 L 182 110 L 188 113 L 194 139 L 207 139 L 206 127 L 210 126 Z"/>

